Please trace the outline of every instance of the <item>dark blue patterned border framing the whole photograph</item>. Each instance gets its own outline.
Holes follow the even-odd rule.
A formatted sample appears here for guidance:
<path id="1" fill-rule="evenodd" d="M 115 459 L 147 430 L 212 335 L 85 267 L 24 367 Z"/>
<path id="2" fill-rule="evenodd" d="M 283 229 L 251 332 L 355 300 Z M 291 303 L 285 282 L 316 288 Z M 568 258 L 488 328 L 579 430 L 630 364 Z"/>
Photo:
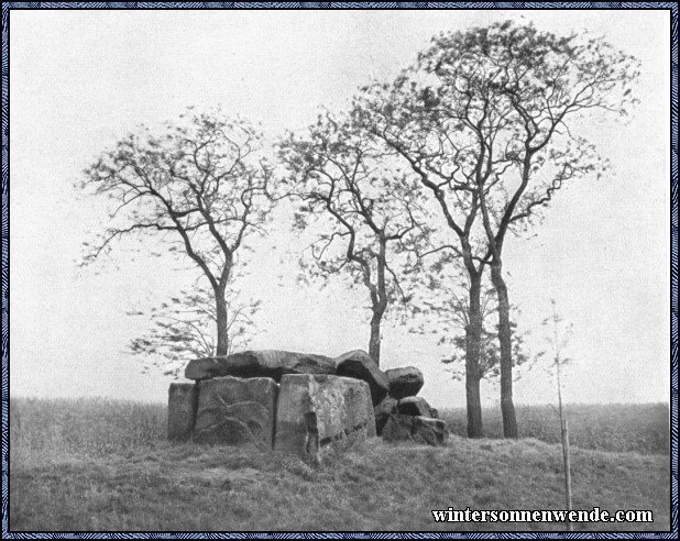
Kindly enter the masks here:
<path id="1" fill-rule="evenodd" d="M 11 533 L 8 523 L 9 14 L 12 9 L 666 9 L 671 12 L 671 530 L 657 533 Z M 674 2 L 6 2 L 2 3 L 2 537 L 3 539 L 677 539 L 678 538 L 678 4 Z"/>

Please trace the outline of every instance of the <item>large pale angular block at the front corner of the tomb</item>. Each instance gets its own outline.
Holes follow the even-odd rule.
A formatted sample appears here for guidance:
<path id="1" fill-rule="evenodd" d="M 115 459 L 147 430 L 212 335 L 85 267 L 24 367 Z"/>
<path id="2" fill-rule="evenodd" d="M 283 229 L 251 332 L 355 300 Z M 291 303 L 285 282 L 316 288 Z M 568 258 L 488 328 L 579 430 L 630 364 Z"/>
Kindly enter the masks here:
<path id="1" fill-rule="evenodd" d="M 331 375 L 281 379 L 274 449 L 318 462 L 332 449 L 365 440 L 375 426 L 365 382 Z"/>

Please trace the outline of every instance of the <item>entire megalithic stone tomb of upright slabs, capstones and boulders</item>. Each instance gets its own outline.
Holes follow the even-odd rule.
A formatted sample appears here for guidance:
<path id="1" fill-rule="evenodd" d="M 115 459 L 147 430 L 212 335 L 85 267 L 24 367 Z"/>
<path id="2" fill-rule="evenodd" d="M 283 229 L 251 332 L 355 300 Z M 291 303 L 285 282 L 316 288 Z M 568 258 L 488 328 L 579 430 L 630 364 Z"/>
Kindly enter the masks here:
<path id="1" fill-rule="evenodd" d="M 339 357 L 277 350 L 190 361 L 194 383 L 168 391 L 168 439 L 255 445 L 320 461 L 366 438 L 446 442 L 446 423 L 424 398 L 414 367 L 383 372 L 368 353 Z"/>

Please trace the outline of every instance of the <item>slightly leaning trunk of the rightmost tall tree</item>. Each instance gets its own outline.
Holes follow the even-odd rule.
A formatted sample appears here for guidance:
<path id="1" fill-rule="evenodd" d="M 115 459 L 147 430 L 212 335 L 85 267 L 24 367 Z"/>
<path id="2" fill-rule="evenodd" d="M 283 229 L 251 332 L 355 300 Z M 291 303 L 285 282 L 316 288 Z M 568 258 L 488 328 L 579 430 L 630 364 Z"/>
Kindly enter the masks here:
<path id="1" fill-rule="evenodd" d="M 513 404 L 513 333 L 509 323 L 509 300 L 503 279 L 503 263 L 494 260 L 491 265 L 491 280 L 498 296 L 498 341 L 501 342 L 501 411 L 503 435 L 517 438 L 517 419 Z"/>

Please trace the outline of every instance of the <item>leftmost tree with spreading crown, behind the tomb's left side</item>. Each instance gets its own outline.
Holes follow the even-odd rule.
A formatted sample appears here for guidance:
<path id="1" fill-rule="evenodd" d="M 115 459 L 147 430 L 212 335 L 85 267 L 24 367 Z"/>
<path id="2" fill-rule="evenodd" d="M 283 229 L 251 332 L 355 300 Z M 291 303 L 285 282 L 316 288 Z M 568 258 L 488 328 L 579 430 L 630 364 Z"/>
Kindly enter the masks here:
<path id="1" fill-rule="evenodd" d="M 113 241 L 147 233 L 200 269 L 215 302 L 216 353 L 229 351 L 227 287 L 246 235 L 262 232 L 271 200 L 261 135 L 243 120 L 189 114 L 158 135 L 149 129 L 119 141 L 86 170 L 85 189 L 113 201 L 110 222 L 84 263 Z"/>

